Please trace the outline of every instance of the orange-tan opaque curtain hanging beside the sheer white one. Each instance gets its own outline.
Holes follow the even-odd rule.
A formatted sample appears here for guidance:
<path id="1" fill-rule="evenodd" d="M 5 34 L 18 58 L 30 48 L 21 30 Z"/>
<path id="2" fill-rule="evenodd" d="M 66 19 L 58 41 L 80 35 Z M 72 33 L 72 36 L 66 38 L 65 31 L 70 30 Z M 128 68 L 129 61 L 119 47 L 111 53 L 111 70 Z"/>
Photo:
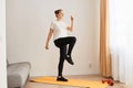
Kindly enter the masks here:
<path id="1" fill-rule="evenodd" d="M 111 77 L 111 55 L 109 47 L 109 1 L 100 3 L 100 67 L 101 75 Z"/>

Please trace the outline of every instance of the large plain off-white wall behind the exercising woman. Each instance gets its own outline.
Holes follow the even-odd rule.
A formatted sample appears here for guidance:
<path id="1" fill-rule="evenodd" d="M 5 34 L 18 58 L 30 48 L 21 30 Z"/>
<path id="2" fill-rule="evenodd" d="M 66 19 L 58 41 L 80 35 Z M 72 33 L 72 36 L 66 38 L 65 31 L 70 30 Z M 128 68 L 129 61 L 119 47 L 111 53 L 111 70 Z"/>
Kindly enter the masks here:
<path id="1" fill-rule="evenodd" d="M 52 40 L 44 50 L 53 11 L 64 10 L 64 20 L 74 16 L 74 66 L 65 63 L 64 75 L 99 73 L 99 0 L 7 0 L 9 63 L 30 62 L 31 76 L 57 75 L 59 50 Z M 91 64 L 91 68 L 90 68 Z"/>

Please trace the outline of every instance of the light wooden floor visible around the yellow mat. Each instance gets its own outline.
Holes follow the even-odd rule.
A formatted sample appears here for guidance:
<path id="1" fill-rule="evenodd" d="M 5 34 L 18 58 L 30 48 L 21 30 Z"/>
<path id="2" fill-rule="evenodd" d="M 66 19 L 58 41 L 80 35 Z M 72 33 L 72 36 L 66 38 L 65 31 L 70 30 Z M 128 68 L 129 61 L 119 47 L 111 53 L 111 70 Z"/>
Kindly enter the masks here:
<path id="1" fill-rule="evenodd" d="M 85 80 L 102 80 L 101 76 L 98 75 L 78 75 L 78 76 L 65 76 L 65 78 L 74 78 L 74 79 L 85 79 Z M 70 86 L 60 86 L 60 85 L 49 85 L 49 84 L 40 84 L 40 82 L 30 82 L 28 81 L 24 88 L 83 88 L 83 87 L 70 87 Z M 125 88 L 124 84 L 114 81 L 114 86 L 109 86 L 108 88 Z"/>

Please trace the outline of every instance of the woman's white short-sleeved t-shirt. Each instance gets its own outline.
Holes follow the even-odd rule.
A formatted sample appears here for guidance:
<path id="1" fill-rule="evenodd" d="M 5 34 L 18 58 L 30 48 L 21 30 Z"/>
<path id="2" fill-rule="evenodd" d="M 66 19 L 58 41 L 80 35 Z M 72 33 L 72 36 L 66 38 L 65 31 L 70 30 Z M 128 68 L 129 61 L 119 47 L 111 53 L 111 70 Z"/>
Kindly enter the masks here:
<path id="1" fill-rule="evenodd" d="M 53 21 L 50 25 L 50 29 L 53 30 L 53 40 L 59 37 L 66 37 L 68 36 L 68 24 L 63 21 Z"/>

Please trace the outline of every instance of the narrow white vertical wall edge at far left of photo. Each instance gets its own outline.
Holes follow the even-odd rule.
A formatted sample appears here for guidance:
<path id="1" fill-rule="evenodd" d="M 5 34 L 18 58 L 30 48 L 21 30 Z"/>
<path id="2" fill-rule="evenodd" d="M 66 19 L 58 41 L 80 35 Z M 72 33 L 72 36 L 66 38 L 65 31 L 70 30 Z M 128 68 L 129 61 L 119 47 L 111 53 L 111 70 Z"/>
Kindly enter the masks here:
<path id="1" fill-rule="evenodd" d="M 0 0 L 0 88 L 7 88 L 6 0 Z"/>

